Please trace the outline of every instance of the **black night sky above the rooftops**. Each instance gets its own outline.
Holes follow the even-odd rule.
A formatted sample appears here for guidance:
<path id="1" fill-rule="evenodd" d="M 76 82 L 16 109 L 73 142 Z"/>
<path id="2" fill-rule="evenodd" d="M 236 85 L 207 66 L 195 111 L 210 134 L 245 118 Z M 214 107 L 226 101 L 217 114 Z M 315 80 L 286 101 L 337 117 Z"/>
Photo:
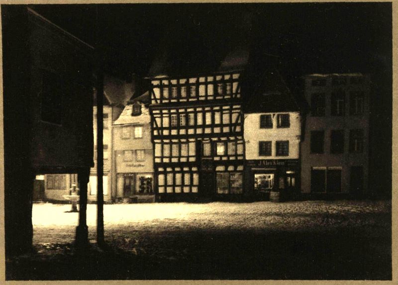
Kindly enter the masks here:
<path id="1" fill-rule="evenodd" d="M 165 50 L 174 66 L 214 70 L 244 46 L 252 61 L 280 58 L 295 85 L 307 73 L 392 73 L 391 3 L 33 5 L 104 50 L 107 72 L 147 76 Z M 98 19 L 96 24 L 96 19 Z M 100 34 L 96 39 L 96 25 Z M 253 59 L 254 58 L 254 59 Z"/>

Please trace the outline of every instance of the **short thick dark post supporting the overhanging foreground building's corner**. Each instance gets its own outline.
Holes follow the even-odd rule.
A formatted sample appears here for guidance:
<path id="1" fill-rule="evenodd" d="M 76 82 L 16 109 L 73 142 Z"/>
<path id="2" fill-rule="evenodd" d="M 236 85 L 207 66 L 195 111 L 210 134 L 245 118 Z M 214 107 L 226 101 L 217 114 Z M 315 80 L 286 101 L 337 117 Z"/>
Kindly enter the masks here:
<path id="1" fill-rule="evenodd" d="M 87 227 L 87 184 L 89 183 L 89 178 L 90 168 L 81 170 L 78 174 L 80 185 L 79 225 L 76 227 L 76 246 L 78 248 L 85 248 L 89 244 L 89 229 Z"/>

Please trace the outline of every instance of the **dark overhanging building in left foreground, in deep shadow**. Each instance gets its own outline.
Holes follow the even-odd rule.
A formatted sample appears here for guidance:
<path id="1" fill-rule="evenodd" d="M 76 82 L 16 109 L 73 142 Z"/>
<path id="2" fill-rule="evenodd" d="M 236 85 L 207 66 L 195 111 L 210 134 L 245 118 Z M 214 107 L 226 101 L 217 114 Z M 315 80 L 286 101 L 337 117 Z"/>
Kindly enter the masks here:
<path id="1" fill-rule="evenodd" d="M 24 5 L 2 5 L 5 253 L 32 244 L 37 174 L 78 173 L 81 202 L 93 165 L 93 48 Z M 86 236 L 81 209 L 78 235 Z"/>

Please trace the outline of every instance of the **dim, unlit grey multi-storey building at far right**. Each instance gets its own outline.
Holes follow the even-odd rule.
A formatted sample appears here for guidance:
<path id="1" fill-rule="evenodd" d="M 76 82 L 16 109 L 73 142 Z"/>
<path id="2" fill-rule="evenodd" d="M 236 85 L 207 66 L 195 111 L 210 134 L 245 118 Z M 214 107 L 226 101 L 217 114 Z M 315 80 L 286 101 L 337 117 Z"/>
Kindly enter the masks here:
<path id="1" fill-rule="evenodd" d="M 366 193 L 370 90 L 360 73 L 304 76 L 310 113 L 301 144 L 303 193 Z"/>

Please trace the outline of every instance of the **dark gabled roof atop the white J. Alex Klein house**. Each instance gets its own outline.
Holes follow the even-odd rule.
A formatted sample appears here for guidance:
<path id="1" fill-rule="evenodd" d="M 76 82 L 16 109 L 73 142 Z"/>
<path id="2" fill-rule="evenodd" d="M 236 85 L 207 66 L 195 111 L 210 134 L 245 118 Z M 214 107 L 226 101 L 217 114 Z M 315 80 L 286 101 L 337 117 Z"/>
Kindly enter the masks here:
<path id="1" fill-rule="evenodd" d="M 300 108 L 282 76 L 277 70 L 267 70 L 255 83 L 252 94 L 244 106 L 245 113 L 293 112 Z"/>

